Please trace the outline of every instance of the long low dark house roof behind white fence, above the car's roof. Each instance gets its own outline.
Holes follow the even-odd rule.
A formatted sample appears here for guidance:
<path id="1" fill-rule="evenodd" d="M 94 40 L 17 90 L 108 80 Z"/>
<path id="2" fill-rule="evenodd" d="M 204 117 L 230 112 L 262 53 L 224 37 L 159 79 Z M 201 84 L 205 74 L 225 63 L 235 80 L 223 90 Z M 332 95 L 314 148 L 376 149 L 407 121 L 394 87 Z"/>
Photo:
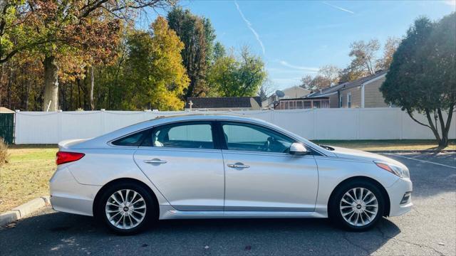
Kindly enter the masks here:
<path id="1" fill-rule="evenodd" d="M 237 108 L 237 107 L 256 107 L 252 105 L 256 102 L 261 106 L 260 97 L 189 97 L 185 103 L 185 108 L 190 108 L 189 102 L 192 101 L 192 108 Z M 257 106 L 258 107 L 258 106 Z"/>

